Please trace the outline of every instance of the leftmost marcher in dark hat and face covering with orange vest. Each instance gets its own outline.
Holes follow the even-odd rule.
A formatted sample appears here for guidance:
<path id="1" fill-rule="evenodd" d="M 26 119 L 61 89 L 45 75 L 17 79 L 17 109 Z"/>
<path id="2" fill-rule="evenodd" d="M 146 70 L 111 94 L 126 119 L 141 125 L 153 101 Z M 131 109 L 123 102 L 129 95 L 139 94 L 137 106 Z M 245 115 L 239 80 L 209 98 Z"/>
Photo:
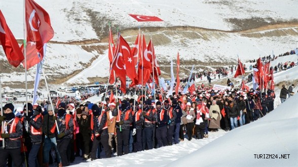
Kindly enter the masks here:
<path id="1" fill-rule="evenodd" d="M 1 124 L 1 148 L 0 148 L 0 166 L 5 166 L 8 156 L 12 157 L 15 166 L 22 166 L 21 157 L 21 136 L 23 134 L 23 125 L 18 117 L 13 113 L 14 105 L 8 103 L 4 106 L 3 116 L 0 116 Z M 2 127 L 2 122 L 5 127 Z M 5 131 L 3 132 L 3 129 Z M 5 140 L 5 148 L 2 147 L 2 141 Z"/>

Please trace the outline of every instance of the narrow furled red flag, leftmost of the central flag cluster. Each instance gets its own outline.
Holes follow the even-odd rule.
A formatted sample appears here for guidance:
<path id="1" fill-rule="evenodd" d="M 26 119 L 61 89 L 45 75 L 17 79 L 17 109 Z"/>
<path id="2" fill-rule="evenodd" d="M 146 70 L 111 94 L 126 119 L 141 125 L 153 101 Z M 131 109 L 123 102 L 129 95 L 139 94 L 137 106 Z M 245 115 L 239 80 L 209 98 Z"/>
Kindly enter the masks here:
<path id="1" fill-rule="evenodd" d="M 109 28 L 109 33 L 108 33 L 108 60 L 109 60 L 109 84 L 114 84 L 115 82 L 115 74 L 114 70 L 111 68 L 111 64 L 113 63 L 114 60 L 114 55 L 115 55 L 115 44 L 113 40 L 113 34 L 111 32 L 111 29 Z"/>

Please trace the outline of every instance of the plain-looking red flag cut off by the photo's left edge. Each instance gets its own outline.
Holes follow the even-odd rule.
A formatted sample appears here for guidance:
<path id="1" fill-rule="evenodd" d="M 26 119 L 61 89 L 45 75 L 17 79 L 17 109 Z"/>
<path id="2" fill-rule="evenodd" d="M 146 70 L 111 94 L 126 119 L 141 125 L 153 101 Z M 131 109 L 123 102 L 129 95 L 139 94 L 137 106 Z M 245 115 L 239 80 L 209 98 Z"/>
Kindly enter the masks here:
<path id="1" fill-rule="evenodd" d="M 9 64 L 17 67 L 24 60 L 24 56 L 20 50 L 16 38 L 6 24 L 5 18 L 0 10 L 0 44 Z"/>

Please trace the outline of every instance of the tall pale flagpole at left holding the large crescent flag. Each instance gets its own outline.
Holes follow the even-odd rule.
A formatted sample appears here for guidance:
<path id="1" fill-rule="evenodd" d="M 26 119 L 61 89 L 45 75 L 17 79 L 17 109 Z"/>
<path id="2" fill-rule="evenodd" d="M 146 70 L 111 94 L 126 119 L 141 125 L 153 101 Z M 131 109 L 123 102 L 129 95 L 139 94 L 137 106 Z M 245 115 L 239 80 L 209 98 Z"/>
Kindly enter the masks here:
<path id="1" fill-rule="evenodd" d="M 23 24 L 24 24 L 24 40 L 23 40 L 23 45 L 24 45 L 24 59 L 25 59 L 25 96 L 26 96 L 26 115 L 28 116 L 28 87 L 27 87 L 27 55 L 26 55 L 26 47 L 27 47 L 27 33 L 26 33 L 26 0 L 24 0 L 24 20 L 23 20 Z M 26 131 L 28 132 L 28 122 L 26 124 Z"/>

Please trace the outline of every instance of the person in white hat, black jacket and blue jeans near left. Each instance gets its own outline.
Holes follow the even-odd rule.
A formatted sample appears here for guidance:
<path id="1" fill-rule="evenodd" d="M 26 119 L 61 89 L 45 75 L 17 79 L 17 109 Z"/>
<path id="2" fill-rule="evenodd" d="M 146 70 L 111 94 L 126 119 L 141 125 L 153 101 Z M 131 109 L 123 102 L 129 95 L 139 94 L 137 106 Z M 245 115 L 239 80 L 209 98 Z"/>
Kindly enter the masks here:
<path id="1" fill-rule="evenodd" d="M 58 166 L 62 166 L 60 153 L 57 149 L 57 142 L 55 137 L 56 132 L 56 116 L 54 115 L 54 108 L 49 104 L 47 108 L 48 114 L 44 115 L 42 124 L 43 133 L 45 135 L 44 149 L 43 149 L 43 163 L 44 166 L 49 166 L 49 153 L 52 148 L 55 149 Z"/>

